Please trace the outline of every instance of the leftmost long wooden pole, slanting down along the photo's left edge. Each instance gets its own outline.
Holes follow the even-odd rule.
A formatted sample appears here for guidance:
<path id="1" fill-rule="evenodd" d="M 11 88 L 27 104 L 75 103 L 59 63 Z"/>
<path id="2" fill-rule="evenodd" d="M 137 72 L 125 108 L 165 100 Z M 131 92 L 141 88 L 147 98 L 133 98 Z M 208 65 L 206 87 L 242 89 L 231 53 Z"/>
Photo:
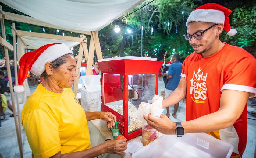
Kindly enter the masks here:
<path id="1" fill-rule="evenodd" d="M 2 6 L 0 7 L 2 9 Z M 2 35 L 3 38 L 6 40 L 6 35 L 5 35 L 5 24 L 4 24 L 4 19 L 1 18 L 1 27 L 2 27 Z M 17 122 L 17 114 L 16 114 L 16 108 L 15 108 L 15 101 L 14 101 L 14 96 L 13 96 L 13 86 L 12 86 L 12 75 L 11 75 L 11 69 L 10 69 L 10 64 L 9 64 L 9 55 L 8 55 L 8 49 L 4 47 L 5 50 L 5 57 L 6 57 L 6 66 L 7 66 L 7 73 L 8 73 L 8 78 L 9 78 L 9 84 L 10 84 L 10 92 L 11 92 L 11 98 L 12 98 L 12 109 L 13 109 L 13 116 L 14 116 L 14 122 L 15 122 L 15 127 L 16 127 L 16 134 L 17 134 L 17 139 L 18 139 L 18 145 L 19 145 L 19 150 L 20 150 L 20 157 L 23 158 L 23 152 L 22 152 L 22 142 L 19 134 L 19 127 L 18 127 L 18 122 Z"/>

